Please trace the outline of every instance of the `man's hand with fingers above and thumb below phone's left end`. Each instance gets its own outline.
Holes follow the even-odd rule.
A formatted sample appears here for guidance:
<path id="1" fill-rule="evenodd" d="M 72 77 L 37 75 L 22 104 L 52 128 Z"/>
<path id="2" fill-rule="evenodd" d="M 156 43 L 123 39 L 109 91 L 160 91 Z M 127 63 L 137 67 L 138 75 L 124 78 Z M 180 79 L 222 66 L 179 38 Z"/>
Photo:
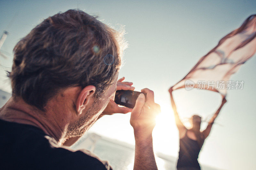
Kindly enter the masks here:
<path id="1" fill-rule="evenodd" d="M 132 87 L 132 82 L 123 82 L 124 77 L 120 78 L 116 83 L 116 89 L 117 90 L 134 90 L 135 87 Z M 114 99 L 110 99 L 108 102 L 108 106 L 105 108 L 105 110 L 102 112 L 102 115 L 113 115 L 114 113 L 128 113 L 131 112 L 131 108 L 127 107 L 119 107 Z"/>

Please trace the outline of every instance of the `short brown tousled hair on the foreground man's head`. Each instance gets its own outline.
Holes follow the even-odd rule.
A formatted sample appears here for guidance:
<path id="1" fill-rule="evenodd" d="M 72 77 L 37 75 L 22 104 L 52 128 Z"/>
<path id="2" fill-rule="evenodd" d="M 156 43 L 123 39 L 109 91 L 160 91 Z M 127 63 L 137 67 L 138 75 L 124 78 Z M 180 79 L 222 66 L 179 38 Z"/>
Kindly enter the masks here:
<path id="1" fill-rule="evenodd" d="M 13 49 L 12 95 L 41 110 L 70 86 L 94 85 L 99 98 L 120 69 L 123 33 L 79 10 L 44 19 Z"/>

